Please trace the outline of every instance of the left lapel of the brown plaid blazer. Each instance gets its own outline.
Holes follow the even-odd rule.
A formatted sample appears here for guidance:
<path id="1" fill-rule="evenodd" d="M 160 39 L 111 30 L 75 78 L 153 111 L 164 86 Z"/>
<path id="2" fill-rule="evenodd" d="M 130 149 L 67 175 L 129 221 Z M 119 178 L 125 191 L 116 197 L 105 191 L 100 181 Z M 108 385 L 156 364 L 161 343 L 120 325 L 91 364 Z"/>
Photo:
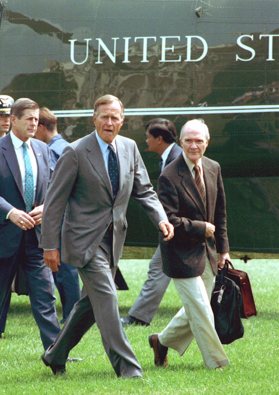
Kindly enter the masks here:
<path id="1" fill-rule="evenodd" d="M 201 214 L 203 214 L 203 217 L 206 220 L 206 209 L 203 203 L 203 199 L 201 197 L 201 194 L 199 193 L 197 184 L 195 183 L 191 171 L 187 166 L 187 164 L 185 163 L 182 154 L 180 154 L 179 161 L 177 162 L 177 164 L 179 166 L 179 175 L 180 177 L 182 177 L 181 185 L 186 190 L 190 198 L 197 205 L 197 207 L 201 211 Z"/>

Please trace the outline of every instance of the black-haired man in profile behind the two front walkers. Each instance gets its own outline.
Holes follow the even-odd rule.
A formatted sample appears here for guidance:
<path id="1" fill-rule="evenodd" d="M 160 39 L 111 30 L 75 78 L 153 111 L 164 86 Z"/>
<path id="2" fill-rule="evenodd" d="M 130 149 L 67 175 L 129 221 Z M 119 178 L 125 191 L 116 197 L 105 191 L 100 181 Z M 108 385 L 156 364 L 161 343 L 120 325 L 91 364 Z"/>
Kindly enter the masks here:
<path id="1" fill-rule="evenodd" d="M 161 156 L 159 162 L 159 175 L 161 171 L 171 163 L 182 152 L 177 141 L 176 129 L 168 119 L 151 119 L 145 125 L 146 143 L 151 152 Z M 162 258 L 160 246 L 158 245 L 151 261 L 147 280 L 141 288 L 141 292 L 135 303 L 129 310 L 128 317 L 122 317 L 122 324 L 149 325 L 160 305 L 162 297 L 166 292 L 171 278 L 166 276 L 162 270 Z"/>

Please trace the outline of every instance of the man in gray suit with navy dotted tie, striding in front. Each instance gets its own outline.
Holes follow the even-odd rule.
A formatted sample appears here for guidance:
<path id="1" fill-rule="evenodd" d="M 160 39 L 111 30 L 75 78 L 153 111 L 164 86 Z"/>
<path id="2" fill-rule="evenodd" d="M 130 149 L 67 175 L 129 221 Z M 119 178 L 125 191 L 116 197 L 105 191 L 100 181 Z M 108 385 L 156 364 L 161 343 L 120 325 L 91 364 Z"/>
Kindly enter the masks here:
<path id="1" fill-rule="evenodd" d="M 96 130 L 64 149 L 45 199 L 40 242 L 45 262 L 52 271 L 58 270 L 60 223 L 66 209 L 62 259 L 78 268 L 87 292 L 42 355 L 54 374 L 65 372 L 69 351 L 96 322 L 117 376 L 142 376 L 121 325 L 113 281 L 125 241 L 130 196 L 159 226 L 165 241 L 173 237 L 173 226 L 153 190 L 136 143 L 117 135 L 123 111 L 123 104 L 112 95 L 95 102 Z"/>

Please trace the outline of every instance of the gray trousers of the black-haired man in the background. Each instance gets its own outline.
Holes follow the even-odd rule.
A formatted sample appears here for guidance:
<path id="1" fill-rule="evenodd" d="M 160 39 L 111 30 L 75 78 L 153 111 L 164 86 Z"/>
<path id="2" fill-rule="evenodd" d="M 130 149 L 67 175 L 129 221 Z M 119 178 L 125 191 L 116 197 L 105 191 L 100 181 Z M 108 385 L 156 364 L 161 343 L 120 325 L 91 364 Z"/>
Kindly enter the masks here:
<path id="1" fill-rule="evenodd" d="M 149 263 L 147 280 L 141 288 L 135 303 L 129 310 L 130 316 L 151 323 L 171 281 L 162 271 L 162 257 L 160 246 L 157 247 Z"/>

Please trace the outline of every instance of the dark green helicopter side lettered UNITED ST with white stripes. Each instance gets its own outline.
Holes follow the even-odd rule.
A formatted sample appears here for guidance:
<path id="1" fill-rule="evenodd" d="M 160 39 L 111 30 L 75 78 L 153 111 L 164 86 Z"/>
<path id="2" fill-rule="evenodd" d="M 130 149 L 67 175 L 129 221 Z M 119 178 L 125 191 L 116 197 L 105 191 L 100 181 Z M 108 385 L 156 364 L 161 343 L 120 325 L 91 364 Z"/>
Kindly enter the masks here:
<path id="1" fill-rule="evenodd" d="M 145 122 L 166 117 L 180 130 L 202 117 L 206 155 L 221 165 L 231 249 L 279 252 L 279 2 L 0 4 L 1 93 L 49 107 L 68 141 L 93 130 L 84 110 L 99 96 L 118 96 L 126 107 L 121 134 L 137 141 L 155 185 L 158 156 L 146 152 Z M 134 201 L 127 218 L 126 244 L 158 243 Z"/>

